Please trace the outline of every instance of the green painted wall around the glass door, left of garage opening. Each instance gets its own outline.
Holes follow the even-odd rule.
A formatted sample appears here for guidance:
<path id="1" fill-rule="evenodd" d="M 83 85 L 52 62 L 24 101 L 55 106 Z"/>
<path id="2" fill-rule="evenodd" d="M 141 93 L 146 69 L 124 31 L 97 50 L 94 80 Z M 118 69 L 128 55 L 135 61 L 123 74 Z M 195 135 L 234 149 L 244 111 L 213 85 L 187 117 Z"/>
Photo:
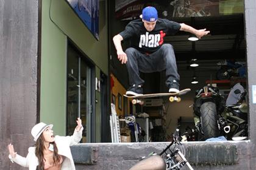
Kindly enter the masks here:
<path id="1" fill-rule="evenodd" d="M 54 132 L 66 134 L 66 46 L 67 37 L 96 66 L 108 75 L 107 15 L 105 1 L 99 4 L 99 41 L 97 41 L 68 3 L 63 0 L 42 1 L 41 23 L 41 92 L 40 121 L 54 124 Z M 92 80 L 94 81 L 94 80 Z M 96 92 L 96 127 L 100 126 L 100 96 Z M 96 129 L 99 140 L 100 131 Z"/>

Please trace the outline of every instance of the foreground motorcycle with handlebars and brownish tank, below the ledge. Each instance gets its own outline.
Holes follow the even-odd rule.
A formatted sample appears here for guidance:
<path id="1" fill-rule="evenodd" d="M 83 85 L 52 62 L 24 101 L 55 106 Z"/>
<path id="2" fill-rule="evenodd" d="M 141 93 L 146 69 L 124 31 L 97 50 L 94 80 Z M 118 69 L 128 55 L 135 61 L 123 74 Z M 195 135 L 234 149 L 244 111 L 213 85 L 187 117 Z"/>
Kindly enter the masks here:
<path id="1" fill-rule="evenodd" d="M 152 152 L 148 157 L 143 158 L 129 170 L 155 169 L 155 170 L 179 170 L 187 165 L 193 170 L 190 163 L 185 158 L 185 148 L 180 143 L 179 129 L 172 135 L 172 142 L 160 154 Z"/>

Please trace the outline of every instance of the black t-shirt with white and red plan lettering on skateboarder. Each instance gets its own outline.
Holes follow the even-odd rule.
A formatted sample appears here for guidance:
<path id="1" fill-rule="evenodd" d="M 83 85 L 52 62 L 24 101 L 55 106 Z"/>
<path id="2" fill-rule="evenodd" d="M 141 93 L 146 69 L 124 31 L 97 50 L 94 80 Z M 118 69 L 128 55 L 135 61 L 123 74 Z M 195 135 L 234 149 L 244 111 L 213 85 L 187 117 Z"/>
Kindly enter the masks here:
<path id="1" fill-rule="evenodd" d="M 144 53 L 158 50 L 166 35 L 174 35 L 180 30 L 180 24 L 168 19 L 157 19 L 154 30 L 148 32 L 141 19 L 130 21 L 126 29 L 119 33 L 124 40 L 130 39 L 132 47 Z"/>

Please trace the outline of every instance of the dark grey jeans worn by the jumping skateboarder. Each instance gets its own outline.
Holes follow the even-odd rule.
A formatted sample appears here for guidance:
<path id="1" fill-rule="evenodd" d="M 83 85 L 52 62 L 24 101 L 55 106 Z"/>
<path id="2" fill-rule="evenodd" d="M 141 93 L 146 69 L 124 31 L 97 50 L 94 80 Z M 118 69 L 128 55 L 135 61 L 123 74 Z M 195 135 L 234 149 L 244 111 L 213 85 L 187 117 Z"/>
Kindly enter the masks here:
<path id="1" fill-rule="evenodd" d="M 178 82 L 180 80 L 177 72 L 176 58 L 171 44 L 163 44 L 160 49 L 149 55 L 130 47 L 126 49 L 126 55 L 126 67 L 129 74 L 130 86 L 132 84 L 144 83 L 144 80 L 140 78 L 140 72 L 160 72 L 166 69 L 166 86 L 173 80 Z"/>

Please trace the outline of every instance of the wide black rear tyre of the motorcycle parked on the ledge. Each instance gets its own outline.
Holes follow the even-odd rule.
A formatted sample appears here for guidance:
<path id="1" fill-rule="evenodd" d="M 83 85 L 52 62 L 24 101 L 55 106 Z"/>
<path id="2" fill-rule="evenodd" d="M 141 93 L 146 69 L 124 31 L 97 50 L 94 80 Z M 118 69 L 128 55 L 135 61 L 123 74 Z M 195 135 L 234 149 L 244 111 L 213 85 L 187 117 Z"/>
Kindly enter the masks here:
<path id="1" fill-rule="evenodd" d="M 218 137 L 219 128 L 217 123 L 216 104 L 213 102 L 205 102 L 200 108 L 202 131 L 205 140 L 207 138 Z"/>

